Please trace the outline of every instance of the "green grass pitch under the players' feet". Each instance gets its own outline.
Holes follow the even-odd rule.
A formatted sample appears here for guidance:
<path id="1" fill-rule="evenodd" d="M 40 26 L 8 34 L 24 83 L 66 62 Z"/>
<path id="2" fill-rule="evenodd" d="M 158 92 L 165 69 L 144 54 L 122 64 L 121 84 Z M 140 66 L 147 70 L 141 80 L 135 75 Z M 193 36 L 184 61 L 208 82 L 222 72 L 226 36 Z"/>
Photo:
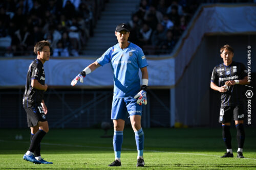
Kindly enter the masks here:
<path id="1" fill-rule="evenodd" d="M 145 169 L 256 169 L 256 129 L 246 128 L 244 156 L 236 158 L 236 130 L 231 129 L 234 158 L 225 153 L 220 128 L 143 129 Z M 121 167 L 114 161 L 112 138 L 101 129 L 50 129 L 41 142 L 41 157 L 54 164 L 23 160 L 29 147 L 29 129 L 0 129 L 0 169 L 138 169 L 136 143 L 131 128 L 124 129 Z M 15 135 L 21 134 L 22 140 Z M 113 130 L 108 131 L 109 135 Z"/>

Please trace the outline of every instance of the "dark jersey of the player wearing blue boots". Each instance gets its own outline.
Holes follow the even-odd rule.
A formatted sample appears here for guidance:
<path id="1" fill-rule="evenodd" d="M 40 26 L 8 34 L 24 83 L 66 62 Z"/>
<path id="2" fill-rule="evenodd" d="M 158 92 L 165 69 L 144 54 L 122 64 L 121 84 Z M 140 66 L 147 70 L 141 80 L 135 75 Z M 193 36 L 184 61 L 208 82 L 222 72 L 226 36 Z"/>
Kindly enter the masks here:
<path id="1" fill-rule="evenodd" d="M 31 86 L 31 80 L 36 79 L 41 85 L 45 85 L 44 65 L 35 59 L 30 65 L 27 73 L 27 82 L 23 95 L 23 107 L 30 108 L 40 106 L 44 98 L 44 90 L 37 90 Z"/>

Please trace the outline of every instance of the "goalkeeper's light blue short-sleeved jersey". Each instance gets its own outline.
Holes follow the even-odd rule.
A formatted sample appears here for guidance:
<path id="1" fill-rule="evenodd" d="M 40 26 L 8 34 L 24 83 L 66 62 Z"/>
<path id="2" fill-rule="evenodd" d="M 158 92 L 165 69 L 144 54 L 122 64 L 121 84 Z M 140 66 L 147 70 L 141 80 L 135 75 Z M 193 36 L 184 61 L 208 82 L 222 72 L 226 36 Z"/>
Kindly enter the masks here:
<path id="1" fill-rule="evenodd" d="M 123 50 L 119 44 L 110 47 L 97 59 L 103 66 L 111 63 L 114 72 L 114 98 L 134 97 L 140 90 L 139 68 L 147 66 L 142 49 L 130 42 Z"/>

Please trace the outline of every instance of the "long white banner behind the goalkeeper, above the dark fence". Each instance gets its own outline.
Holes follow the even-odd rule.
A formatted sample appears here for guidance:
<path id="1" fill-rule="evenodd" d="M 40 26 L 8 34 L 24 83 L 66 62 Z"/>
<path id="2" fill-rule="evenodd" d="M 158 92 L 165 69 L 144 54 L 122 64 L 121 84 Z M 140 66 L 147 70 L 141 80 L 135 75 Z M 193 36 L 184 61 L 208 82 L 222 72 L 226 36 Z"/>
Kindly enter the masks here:
<path id="1" fill-rule="evenodd" d="M 25 86 L 27 71 L 33 59 L 1 59 L 0 86 Z M 46 84 L 50 86 L 70 86 L 75 76 L 94 59 L 50 58 L 44 64 Z M 149 86 L 174 85 L 174 59 L 147 60 Z M 113 86 L 113 71 L 110 64 L 99 67 L 84 78 L 77 86 Z"/>

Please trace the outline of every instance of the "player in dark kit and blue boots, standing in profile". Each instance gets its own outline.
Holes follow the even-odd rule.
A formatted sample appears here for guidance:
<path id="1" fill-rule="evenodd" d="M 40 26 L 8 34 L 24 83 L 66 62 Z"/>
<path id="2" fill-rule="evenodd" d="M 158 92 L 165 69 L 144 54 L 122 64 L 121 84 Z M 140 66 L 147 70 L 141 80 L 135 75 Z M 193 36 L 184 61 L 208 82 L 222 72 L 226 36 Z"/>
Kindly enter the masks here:
<path id="1" fill-rule="evenodd" d="M 46 114 L 48 112 L 44 102 L 44 92 L 48 86 L 45 84 L 44 63 L 50 58 L 50 42 L 40 41 L 34 46 L 37 58 L 30 64 L 25 93 L 23 96 L 23 107 L 27 112 L 28 127 L 31 130 L 30 147 L 23 159 L 40 164 L 52 164 L 40 156 L 40 142 L 49 131 Z"/>

